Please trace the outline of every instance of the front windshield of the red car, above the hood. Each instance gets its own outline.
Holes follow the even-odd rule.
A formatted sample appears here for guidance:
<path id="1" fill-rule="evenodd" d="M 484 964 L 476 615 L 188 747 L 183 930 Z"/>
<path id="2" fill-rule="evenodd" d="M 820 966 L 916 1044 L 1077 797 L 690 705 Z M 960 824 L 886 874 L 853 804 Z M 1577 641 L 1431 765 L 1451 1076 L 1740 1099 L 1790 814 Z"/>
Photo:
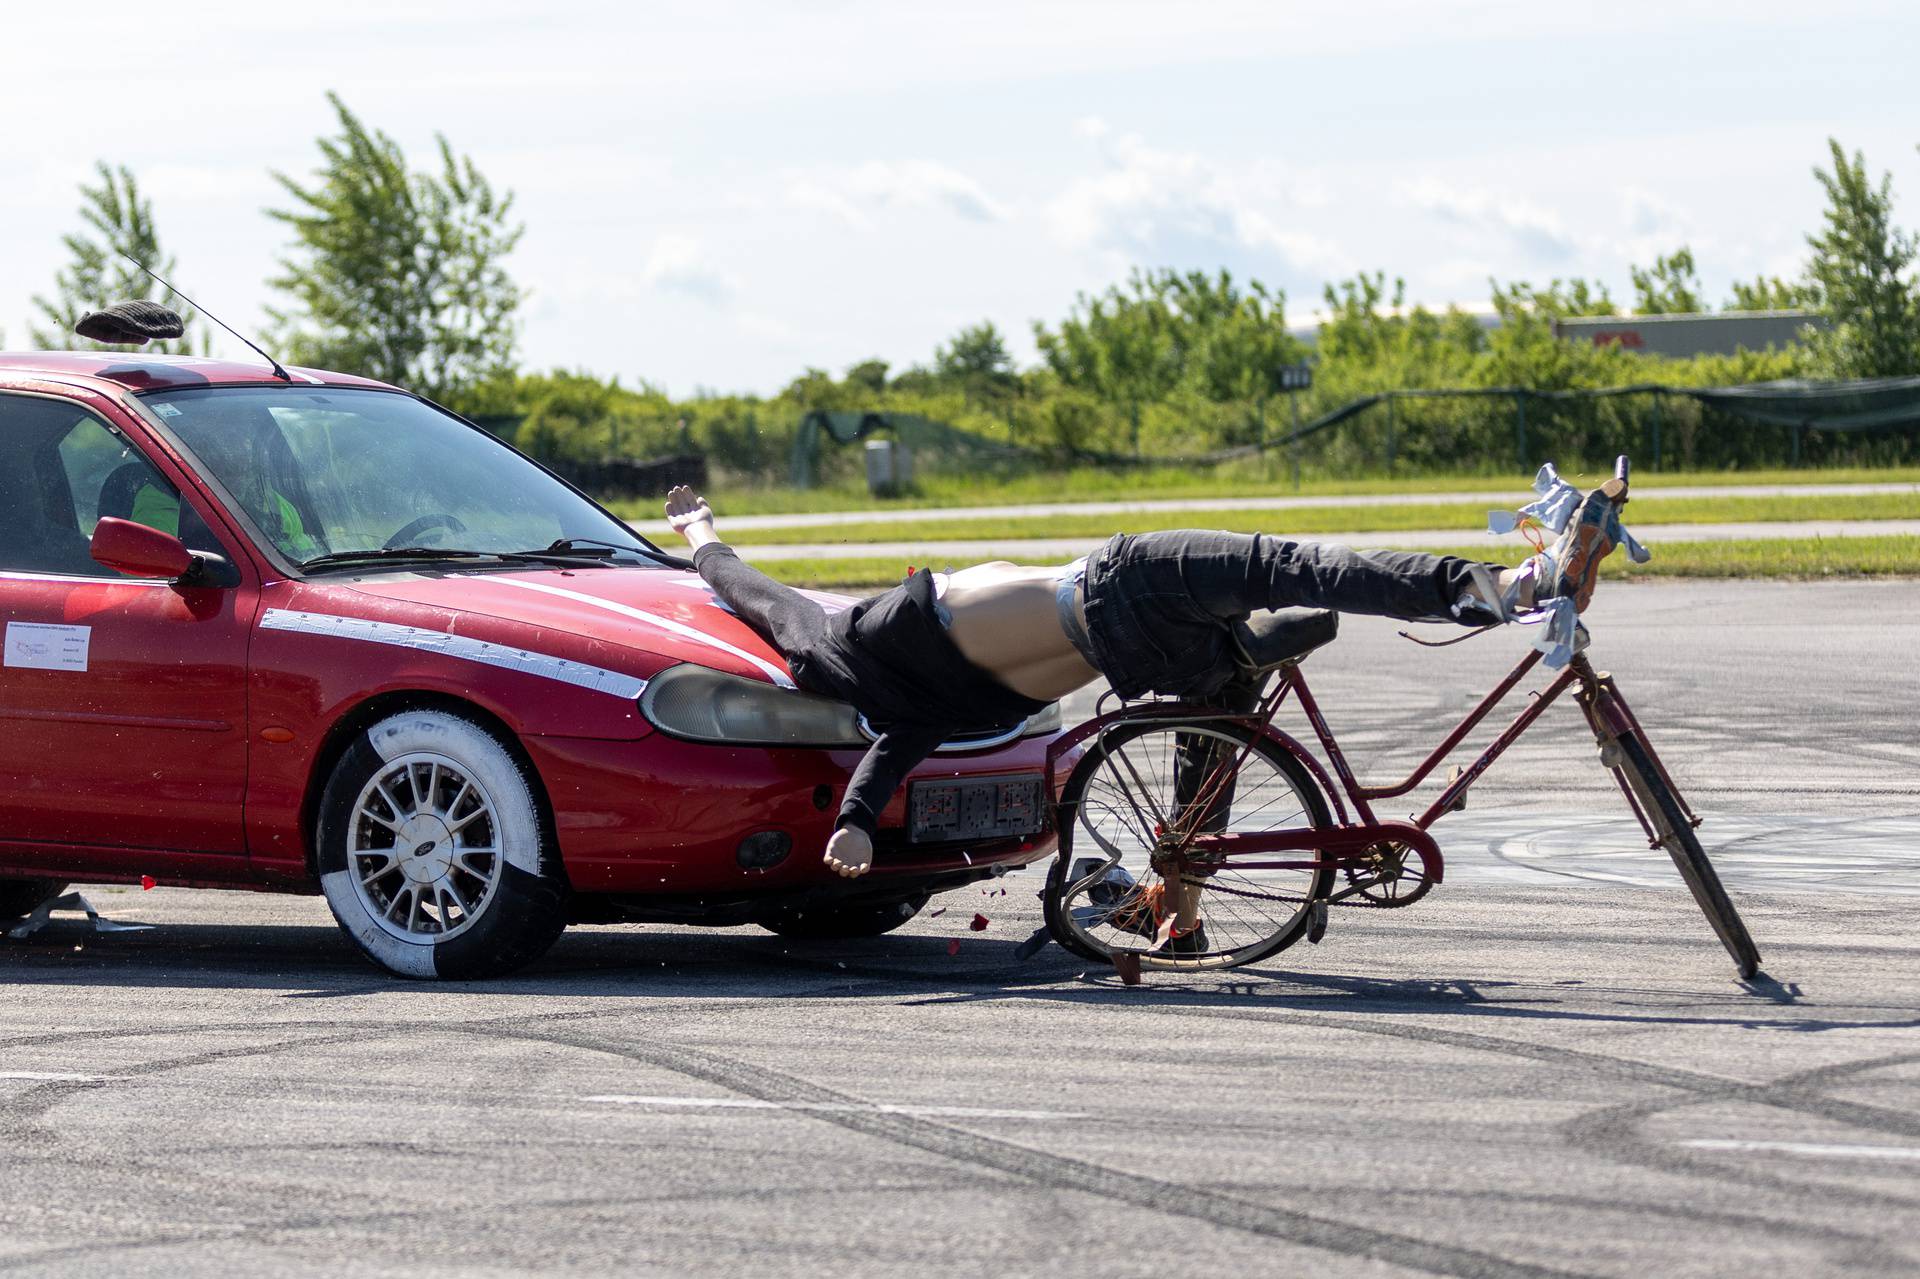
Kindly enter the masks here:
<path id="1" fill-rule="evenodd" d="M 394 547 L 630 549 L 624 524 L 499 440 L 396 392 L 228 386 L 148 396 L 294 563 Z"/>

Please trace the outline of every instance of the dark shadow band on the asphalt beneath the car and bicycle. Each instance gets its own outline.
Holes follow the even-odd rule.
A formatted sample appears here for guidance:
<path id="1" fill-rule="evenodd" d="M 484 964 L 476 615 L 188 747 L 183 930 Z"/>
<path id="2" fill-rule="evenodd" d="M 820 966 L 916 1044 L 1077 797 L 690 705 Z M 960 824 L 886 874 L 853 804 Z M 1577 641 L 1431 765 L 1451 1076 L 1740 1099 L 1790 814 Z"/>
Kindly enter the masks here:
<path id="1" fill-rule="evenodd" d="M 1701 972 L 1692 987 L 1609 987 L 1605 979 L 1404 979 L 1254 966 L 1227 974 L 1148 974 L 1123 985 L 1058 947 L 1020 958 L 1020 941 L 939 935 L 799 943 L 753 928 L 664 929 L 576 926 L 526 970 L 493 981 L 405 981 L 374 970 L 323 926 L 169 924 L 98 935 L 56 922 L 0 939 L 0 983 L 71 989 L 223 989 L 282 999 L 357 995 L 564 997 L 611 1001 L 887 999 L 906 1006 L 1039 1001 L 1154 1010 L 1263 1010 L 1373 1016 L 1496 1016 L 1524 1020 L 1845 1029 L 1920 1026 L 1912 1018 L 1822 1018 L 1818 1001 L 1772 977 L 1738 983 Z M 1791 1008 L 1789 1008 L 1791 1006 Z"/>

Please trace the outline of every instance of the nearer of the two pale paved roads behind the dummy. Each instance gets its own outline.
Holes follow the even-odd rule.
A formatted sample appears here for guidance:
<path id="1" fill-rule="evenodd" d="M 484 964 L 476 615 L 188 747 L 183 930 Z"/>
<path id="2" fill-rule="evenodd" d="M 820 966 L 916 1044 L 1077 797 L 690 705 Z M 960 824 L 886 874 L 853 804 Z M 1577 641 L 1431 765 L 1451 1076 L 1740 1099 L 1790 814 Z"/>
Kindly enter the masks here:
<path id="1" fill-rule="evenodd" d="M 1196 520 L 1206 526 L 1206 520 Z M 1745 542 L 1751 538 L 1891 538 L 1920 534 L 1920 520 L 1793 520 L 1747 524 L 1628 524 L 1632 534 L 1659 555 L 1661 542 Z M 1402 532 L 1342 532 L 1319 534 L 1306 528 L 1277 528 L 1306 542 L 1338 542 L 1352 547 L 1421 549 L 1430 545 L 1471 545 L 1486 542 L 1492 557 L 1523 545 L 1517 538 L 1496 538 L 1484 524 L 1463 522 L 1459 528 L 1423 528 Z M 783 545 L 737 547 L 743 559 L 778 563 L 783 559 L 899 559 L 900 563 L 973 565 L 987 559 L 1050 561 L 1087 555 L 1106 538 L 979 538 L 945 542 L 799 542 Z"/>

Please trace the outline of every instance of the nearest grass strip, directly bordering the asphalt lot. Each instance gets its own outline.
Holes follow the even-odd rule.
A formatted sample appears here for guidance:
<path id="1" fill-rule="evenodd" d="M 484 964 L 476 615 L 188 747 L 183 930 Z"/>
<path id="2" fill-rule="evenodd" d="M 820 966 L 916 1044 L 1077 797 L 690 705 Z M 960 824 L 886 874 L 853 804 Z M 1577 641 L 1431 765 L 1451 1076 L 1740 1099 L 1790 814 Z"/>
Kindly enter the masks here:
<path id="1" fill-rule="evenodd" d="M 1511 559 L 1519 547 L 1509 545 Z M 1653 561 L 1628 563 L 1624 553 L 1609 555 L 1601 565 L 1607 580 L 1642 578 L 1884 578 L 1920 576 L 1920 536 L 1891 538 L 1757 538 L 1753 542 L 1661 542 L 1651 547 Z M 1434 551 L 1478 559 L 1488 553 L 1486 542 Z M 1041 563 L 1066 563 L 1041 561 Z M 814 590 L 872 593 L 897 586 L 906 572 L 899 559 L 789 559 L 764 565 L 781 582 Z"/>

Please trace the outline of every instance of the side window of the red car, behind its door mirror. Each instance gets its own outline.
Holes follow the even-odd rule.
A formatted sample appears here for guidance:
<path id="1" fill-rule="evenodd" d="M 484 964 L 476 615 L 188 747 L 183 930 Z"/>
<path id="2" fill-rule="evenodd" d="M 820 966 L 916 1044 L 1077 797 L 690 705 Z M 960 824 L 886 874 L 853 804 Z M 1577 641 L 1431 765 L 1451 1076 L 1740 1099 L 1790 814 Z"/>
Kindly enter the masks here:
<path id="1" fill-rule="evenodd" d="M 0 568 L 123 576 L 88 547 L 108 515 L 169 532 L 196 551 L 219 549 L 127 436 L 73 403 L 0 396 Z"/>

